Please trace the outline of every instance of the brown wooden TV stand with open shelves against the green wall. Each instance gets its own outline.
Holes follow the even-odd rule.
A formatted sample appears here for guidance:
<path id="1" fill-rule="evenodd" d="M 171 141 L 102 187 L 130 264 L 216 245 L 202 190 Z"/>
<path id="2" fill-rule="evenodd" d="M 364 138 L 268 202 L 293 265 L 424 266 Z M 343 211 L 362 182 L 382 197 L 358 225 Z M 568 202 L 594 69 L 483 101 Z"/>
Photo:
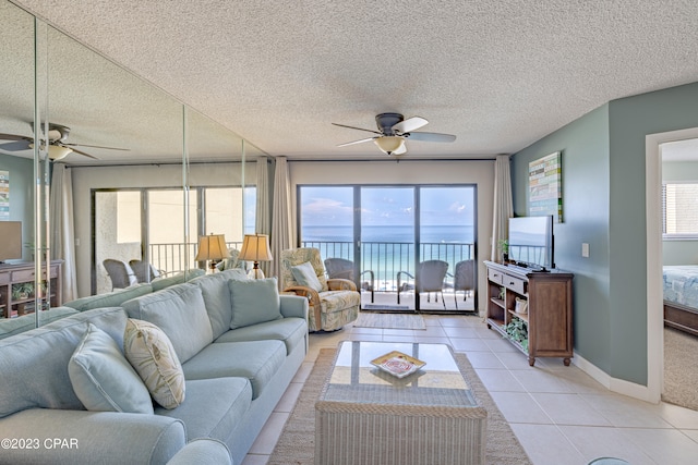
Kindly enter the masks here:
<path id="1" fill-rule="evenodd" d="M 562 357 L 569 366 L 573 357 L 573 286 L 574 274 L 553 270 L 530 269 L 485 261 L 488 268 L 488 328 L 507 338 L 528 355 Z M 528 301 L 528 313 L 517 314 L 516 298 Z M 521 319 L 528 329 L 528 348 L 508 338 L 505 326 Z"/>

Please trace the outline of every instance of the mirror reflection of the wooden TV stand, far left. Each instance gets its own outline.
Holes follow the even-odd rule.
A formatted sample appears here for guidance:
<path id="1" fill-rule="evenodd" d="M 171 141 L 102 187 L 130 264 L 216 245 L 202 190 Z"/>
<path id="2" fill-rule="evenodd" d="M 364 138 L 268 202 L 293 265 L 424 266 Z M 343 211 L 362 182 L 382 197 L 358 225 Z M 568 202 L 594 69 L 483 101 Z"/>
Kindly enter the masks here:
<path id="1" fill-rule="evenodd" d="M 50 276 L 50 303 L 51 307 L 58 307 L 62 299 L 62 267 L 63 260 L 52 260 L 49 267 Z M 46 271 L 41 281 L 46 280 Z M 12 286 L 22 283 L 35 283 L 36 270 L 34 262 L 0 264 L 0 318 L 14 318 L 32 314 L 36 307 L 35 294 L 26 297 L 14 298 Z M 43 299 L 45 304 L 47 298 Z"/>

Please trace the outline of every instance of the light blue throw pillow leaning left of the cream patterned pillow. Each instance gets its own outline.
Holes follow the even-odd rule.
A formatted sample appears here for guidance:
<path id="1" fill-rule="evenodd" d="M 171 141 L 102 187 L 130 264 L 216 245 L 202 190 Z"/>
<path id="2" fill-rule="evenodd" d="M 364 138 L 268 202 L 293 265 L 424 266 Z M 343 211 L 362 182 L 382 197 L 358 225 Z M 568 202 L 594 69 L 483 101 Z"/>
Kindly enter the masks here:
<path id="1" fill-rule="evenodd" d="M 153 414 L 153 403 L 139 375 L 109 334 L 88 323 L 68 363 L 77 399 L 88 411 Z"/>

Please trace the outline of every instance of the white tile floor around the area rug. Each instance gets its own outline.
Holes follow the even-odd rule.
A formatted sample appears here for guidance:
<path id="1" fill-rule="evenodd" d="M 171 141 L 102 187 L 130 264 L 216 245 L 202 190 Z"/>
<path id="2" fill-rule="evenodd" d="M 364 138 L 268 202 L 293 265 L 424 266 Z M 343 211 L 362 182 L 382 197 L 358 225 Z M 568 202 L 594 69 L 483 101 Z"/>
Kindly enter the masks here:
<path id="1" fill-rule="evenodd" d="M 481 318 L 424 318 L 425 331 L 348 326 L 311 334 L 305 363 L 243 465 L 267 463 L 320 348 L 345 340 L 446 343 L 467 353 L 534 465 L 585 465 L 601 456 L 633 465 L 698 463 L 698 412 L 612 393 L 558 358 L 539 358 L 529 367 L 527 357 L 488 330 Z"/>

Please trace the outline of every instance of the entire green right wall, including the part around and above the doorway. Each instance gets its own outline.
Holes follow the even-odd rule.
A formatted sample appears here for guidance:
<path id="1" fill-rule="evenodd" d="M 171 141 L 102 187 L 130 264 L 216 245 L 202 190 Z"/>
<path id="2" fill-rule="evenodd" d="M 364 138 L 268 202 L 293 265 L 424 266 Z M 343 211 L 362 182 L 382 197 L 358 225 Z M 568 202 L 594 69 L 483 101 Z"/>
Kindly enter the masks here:
<path id="1" fill-rule="evenodd" d="M 575 351 L 609 376 L 647 386 L 646 136 L 698 126 L 698 83 L 613 100 L 513 157 L 526 213 L 528 161 L 563 152 L 559 268 L 575 273 Z M 605 197 L 605 200 L 603 200 Z M 581 257 L 581 242 L 590 257 Z"/>

